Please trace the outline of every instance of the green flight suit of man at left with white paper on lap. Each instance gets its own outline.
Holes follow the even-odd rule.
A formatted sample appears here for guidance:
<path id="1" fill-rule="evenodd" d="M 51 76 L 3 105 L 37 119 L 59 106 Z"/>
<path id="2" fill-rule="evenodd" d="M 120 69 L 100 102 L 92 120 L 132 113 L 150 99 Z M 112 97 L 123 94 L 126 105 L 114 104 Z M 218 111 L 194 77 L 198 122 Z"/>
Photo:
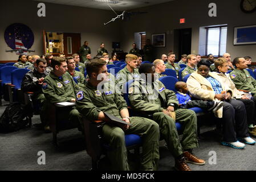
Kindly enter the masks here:
<path id="1" fill-rule="evenodd" d="M 50 103 L 71 101 L 72 98 L 75 98 L 75 91 L 79 89 L 80 87 L 67 72 L 62 77 L 58 77 L 54 74 L 54 71 L 51 71 L 50 75 L 44 78 L 42 85 L 44 97 Z M 82 123 L 82 115 L 76 110 L 75 106 L 72 107 L 70 113 L 64 112 L 61 114 L 62 118 L 68 118 L 69 121 L 77 124 Z"/>

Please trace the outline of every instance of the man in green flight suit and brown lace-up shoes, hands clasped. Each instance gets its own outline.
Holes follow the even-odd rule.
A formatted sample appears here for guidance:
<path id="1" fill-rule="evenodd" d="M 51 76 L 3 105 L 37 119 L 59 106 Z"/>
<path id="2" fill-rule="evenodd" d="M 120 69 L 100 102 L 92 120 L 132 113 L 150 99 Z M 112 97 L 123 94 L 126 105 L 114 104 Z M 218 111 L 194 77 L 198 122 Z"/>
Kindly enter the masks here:
<path id="1" fill-rule="evenodd" d="M 140 111 L 145 117 L 152 118 L 159 124 L 160 133 L 175 158 L 177 170 L 190 171 L 186 162 L 204 165 L 204 160 L 192 154 L 192 149 L 198 147 L 196 113 L 189 109 L 178 109 L 176 94 L 156 80 L 155 67 L 152 64 L 141 65 L 139 73 L 142 79 L 134 81 L 129 87 L 132 109 Z M 175 122 L 180 122 L 184 129 L 181 142 Z"/>

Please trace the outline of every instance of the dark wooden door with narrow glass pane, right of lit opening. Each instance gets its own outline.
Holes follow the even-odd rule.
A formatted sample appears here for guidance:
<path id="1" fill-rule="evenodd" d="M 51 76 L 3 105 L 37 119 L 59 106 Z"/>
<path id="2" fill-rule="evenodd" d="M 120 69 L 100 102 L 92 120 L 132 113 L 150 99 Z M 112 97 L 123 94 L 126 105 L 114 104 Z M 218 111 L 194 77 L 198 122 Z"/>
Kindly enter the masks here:
<path id="1" fill-rule="evenodd" d="M 81 34 L 63 33 L 63 44 L 66 57 L 78 53 L 81 46 Z"/>

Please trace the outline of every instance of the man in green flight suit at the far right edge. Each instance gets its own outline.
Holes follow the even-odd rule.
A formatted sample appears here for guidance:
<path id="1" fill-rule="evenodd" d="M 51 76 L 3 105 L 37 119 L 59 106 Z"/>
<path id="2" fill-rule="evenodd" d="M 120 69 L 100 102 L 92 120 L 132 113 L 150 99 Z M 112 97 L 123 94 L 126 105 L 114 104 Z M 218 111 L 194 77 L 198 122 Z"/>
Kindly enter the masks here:
<path id="1" fill-rule="evenodd" d="M 234 82 L 238 90 L 245 90 L 244 92 L 251 92 L 256 106 L 256 80 L 251 77 L 246 70 L 247 63 L 243 57 L 235 57 L 233 65 L 236 67 L 234 71 L 229 73 L 231 80 Z M 256 136 L 256 127 L 249 127 L 249 133 Z"/>

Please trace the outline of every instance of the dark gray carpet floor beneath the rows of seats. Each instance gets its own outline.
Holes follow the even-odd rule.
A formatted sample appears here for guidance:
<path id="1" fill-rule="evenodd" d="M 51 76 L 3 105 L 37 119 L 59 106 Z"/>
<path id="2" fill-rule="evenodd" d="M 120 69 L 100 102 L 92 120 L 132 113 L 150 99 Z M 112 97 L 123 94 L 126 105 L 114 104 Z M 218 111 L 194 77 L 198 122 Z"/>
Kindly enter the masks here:
<path id="1" fill-rule="evenodd" d="M 8 103 L 3 101 L 0 114 L 3 113 L 6 104 Z M 86 152 L 83 135 L 77 129 L 60 131 L 57 148 L 52 144 L 52 134 L 44 133 L 39 125 L 39 115 L 34 115 L 31 128 L 0 134 L 0 170 L 87 171 L 91 168 L 91 158 Z M 214 126 L 201 127 L 199 143 L 200 147 L 195 148 L 193 152 L 206 160 L 206 164 L 189 164 L 193 171 L 256 170 L 256 146 L 246 144 L 243 150 L 222 146 L 220 133 L 216 132 Z M 38 151 L 46 153 L 46 165 L 37 163 Z M 212 156 L 209 155 L 210 151 L 216 152 L 217 164 L 209 164 L 208 159 Z M 102 162 L 102 166 L 105 165 Z M 161 141 L 159 170 L 170 171 L 173 170 L 173 166 L 173 157 L 165 147 L 165 142 Z"/>

